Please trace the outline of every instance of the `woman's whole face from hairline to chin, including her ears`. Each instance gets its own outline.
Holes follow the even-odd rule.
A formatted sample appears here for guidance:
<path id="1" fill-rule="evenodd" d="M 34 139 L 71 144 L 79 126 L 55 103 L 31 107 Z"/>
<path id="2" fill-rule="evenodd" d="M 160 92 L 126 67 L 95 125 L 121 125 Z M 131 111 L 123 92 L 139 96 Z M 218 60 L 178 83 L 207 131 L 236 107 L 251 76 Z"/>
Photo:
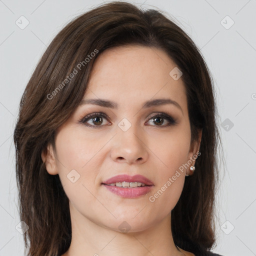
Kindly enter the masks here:
<path id="1" fill-rule="evenodd" d="M 71 216 L 117 231 L 169 218 L 189 169 L 182 164 L 193 165 L 199 148 L 190 146 L 185 87 L 176 69 L 170 73 L 175 67 L 164 51 L 144 46 L 98 56 L 83 99 L 106 103 L 81 103 L 57 130 L 54 155 L 48 147 L 46 168 L 59 175 Z"/>

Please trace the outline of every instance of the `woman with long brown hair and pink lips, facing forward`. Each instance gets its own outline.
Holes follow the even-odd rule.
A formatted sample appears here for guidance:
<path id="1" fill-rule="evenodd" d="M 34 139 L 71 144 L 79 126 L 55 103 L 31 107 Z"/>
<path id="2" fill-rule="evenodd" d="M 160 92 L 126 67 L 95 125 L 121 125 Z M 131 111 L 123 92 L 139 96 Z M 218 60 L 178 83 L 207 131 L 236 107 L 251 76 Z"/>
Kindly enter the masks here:
<path id="1" fill-rule="evenodd" d="M 14 132 L 27 254 L 217 255 L 213 92 L 195 44 L 159 11 L 116 1 L 67 24 Z"/>

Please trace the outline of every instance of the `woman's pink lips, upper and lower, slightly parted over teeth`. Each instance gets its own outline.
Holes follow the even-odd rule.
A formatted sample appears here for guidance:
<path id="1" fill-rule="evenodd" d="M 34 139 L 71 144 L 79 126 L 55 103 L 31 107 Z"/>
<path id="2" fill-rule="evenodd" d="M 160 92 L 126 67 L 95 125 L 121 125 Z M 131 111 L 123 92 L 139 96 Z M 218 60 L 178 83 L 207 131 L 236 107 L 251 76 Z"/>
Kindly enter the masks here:
<path id="1" fill-rule="evenodd" d="M 111 186 L 110 185 L 111 183 L 122 182 L 122 181 L 141 182 L 141 183 L 144 183 L 145 186 L 119 187 L 119 186 Z M 142 175 L 139 175 L 139 174 L 134 175 L 134 176 L 122 174 L 122 175 L 117 175 L 117 176 L 111 177 L 111 178 L 103 181 L 102 185 L 104 187 L 106 187 L 109 191 L 111 191 L 112 193 L 117 194 L 121 197 L 135 198 L 140 195 L 144 195 L 144 194 L 148 193 L 151 190 L 153 183 L 148 178 L 146 178 Z"/>

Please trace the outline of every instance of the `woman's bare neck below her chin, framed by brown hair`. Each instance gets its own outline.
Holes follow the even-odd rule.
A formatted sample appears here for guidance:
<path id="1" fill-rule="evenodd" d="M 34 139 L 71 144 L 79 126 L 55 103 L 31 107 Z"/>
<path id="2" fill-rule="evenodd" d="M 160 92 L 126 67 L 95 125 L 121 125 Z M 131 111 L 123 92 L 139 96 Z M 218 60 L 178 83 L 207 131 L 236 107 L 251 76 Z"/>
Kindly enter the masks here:
<path id="1" fill-rule="evenodd" d="M 173 242 L 170 214 L 145 230 L 126 233 L 92 222 L 71 204 L 70 215 L 72 239 L 62 256 L 184 255 Z"/>

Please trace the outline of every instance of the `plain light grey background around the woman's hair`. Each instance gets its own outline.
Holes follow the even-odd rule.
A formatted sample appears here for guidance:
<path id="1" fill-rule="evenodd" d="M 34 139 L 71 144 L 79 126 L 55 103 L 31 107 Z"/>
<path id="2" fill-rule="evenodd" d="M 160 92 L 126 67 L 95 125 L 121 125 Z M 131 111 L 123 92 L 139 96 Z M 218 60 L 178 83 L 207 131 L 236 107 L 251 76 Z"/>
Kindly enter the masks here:
<path id="1" fill-rule="evenodd" d="M 13 128 L 20 97 L 54 35 L 100 2 L 0 0 L 0 256 L 21 256 L 24 248 L 22 235 L 15 228 L 20 220 Z M 225 159 L 220 166 L 214 251 L 230 256 L 256 255 L 256 0 L 132 3 L 164 10 L 201 49 L 215 82 Z M 25 24 L 21 15 L 29 21 L 23 29 L 19 27 L 21 22 Z"/>

